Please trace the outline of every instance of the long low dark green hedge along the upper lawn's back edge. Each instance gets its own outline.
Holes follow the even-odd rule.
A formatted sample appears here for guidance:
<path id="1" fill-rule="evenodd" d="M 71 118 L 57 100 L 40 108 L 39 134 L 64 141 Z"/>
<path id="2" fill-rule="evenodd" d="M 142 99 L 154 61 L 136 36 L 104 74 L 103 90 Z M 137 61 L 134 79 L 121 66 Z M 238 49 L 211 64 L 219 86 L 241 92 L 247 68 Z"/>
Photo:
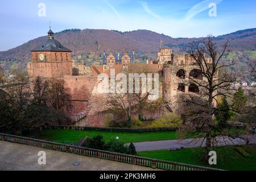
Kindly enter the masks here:
<path id="1" fill-rule="evenodd" d="M 152 128 L 114 128 L 114 127 L 86 127 L 86 126 L 44 126 L 48 130 L 89 130 L 89 131 L 110 131 L 110 132 L 155 132 L 155 131 L 176 131 L 176 127 L 152 127 Z"/>

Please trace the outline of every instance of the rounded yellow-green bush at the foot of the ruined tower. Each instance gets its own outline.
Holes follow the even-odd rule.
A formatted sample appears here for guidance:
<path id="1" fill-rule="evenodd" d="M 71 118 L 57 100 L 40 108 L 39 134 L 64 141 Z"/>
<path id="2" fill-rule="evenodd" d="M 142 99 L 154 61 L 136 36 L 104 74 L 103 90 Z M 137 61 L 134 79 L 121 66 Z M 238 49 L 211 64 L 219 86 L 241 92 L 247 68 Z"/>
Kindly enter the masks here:
<path id="1" fill-rule="evenodd" d="M 153 121 L 148 127 L 179 127 L 182 124 L 180 115 L 165 113 L 159 119 Z"/>

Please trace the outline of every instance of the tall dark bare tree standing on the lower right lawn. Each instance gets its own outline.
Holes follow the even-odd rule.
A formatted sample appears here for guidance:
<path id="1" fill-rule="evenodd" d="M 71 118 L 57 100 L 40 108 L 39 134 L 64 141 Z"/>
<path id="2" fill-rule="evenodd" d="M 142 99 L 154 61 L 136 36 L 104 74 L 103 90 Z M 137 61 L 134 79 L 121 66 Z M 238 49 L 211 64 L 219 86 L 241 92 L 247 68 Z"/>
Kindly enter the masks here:
<path id="1" fill-rule="evenodd" d="M 202 77 L 190 75 L 186 85 L 198 87 L 197 92 L 187 94 L 184 99 L 185 125 L 183 131 L 203 138 L 205 142 L 205 160 L 208 161 L 210 147 L 218 141 L 217 136 L 231 135 L 224 125 L 216 122 L 216 114 L 219 114 L 220 107 L 217 107 L 218 97 L 233 99 L 232 91 L 236 77 L 232 72 L 226 71 L 230 64 L 224 64 L 221 59 L 228 55 L 228 42 L 220 48 L 213 42 L 212 37 L 202 39 L 200 42 L 193 42 L 187 47 L 187 52 L 200 69 L 197 73 Z M 232 109 L 232 108 L 230 108 Z"/>

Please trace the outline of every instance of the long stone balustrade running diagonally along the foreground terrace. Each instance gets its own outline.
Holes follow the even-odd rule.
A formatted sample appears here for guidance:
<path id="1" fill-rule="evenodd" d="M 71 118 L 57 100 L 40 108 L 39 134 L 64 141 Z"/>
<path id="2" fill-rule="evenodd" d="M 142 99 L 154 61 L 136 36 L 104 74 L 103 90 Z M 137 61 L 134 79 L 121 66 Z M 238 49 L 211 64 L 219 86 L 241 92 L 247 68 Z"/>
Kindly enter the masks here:
<path id="1" fill-rule="evenodd" d="M 202 166 L 195 166 L 190 164 L 182 164 L 182 163 L 175 163 L 175 162 L 169 162 L 164 160 L 143 158 L 141 156 L 135 156 L 135 155 L 119 154 L 115 152 L 96 150 L 93 148 L 71 146 L 71 145 L 62 144 L 62 143 L 48 142 L 46 140 L 19 137 L 16 135 L 9 135 L 9 134 L 3 134 L 3 133 L 0 133 L 0 140 L 19 143 L 19 144 L 27 144 L 29 146 L 47 148 L 49 150 L 70 152 L 72 154 L 91 156 L 94 158 L 114 160 L 117 162 L 136 164 L 139 166 L 146 166 L 146 167 L 164 169 L 164 170 L 174 170 L 174 171 L 211 171 L 211 170 L 219 171 L 221 170 L 221 169 L 214 169 L 214 168 L 208 168 L 208 167 L 202 167 Z"/>

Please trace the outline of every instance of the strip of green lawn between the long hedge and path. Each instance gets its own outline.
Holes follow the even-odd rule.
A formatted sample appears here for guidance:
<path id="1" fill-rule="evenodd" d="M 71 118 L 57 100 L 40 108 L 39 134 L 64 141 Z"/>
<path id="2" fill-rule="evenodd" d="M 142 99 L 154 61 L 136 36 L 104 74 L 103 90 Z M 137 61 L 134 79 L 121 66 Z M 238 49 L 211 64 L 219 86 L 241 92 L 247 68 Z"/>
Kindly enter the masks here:
<path id="1" fill-rule="evenodd" d="M 80 131 L 80 130 L 44 130 L 43 135 L 30 135 L 28 137 L 49 140 L 52 142 L 76 144 L 82 138 L 102 135 L 108 142 L 110 139 L 119 137 L 124 143 L 145 142 L 154 140 L 176 139 L 175 131 L 145 132 L 145 133 L 123 133 L 107 131 Z"/>

